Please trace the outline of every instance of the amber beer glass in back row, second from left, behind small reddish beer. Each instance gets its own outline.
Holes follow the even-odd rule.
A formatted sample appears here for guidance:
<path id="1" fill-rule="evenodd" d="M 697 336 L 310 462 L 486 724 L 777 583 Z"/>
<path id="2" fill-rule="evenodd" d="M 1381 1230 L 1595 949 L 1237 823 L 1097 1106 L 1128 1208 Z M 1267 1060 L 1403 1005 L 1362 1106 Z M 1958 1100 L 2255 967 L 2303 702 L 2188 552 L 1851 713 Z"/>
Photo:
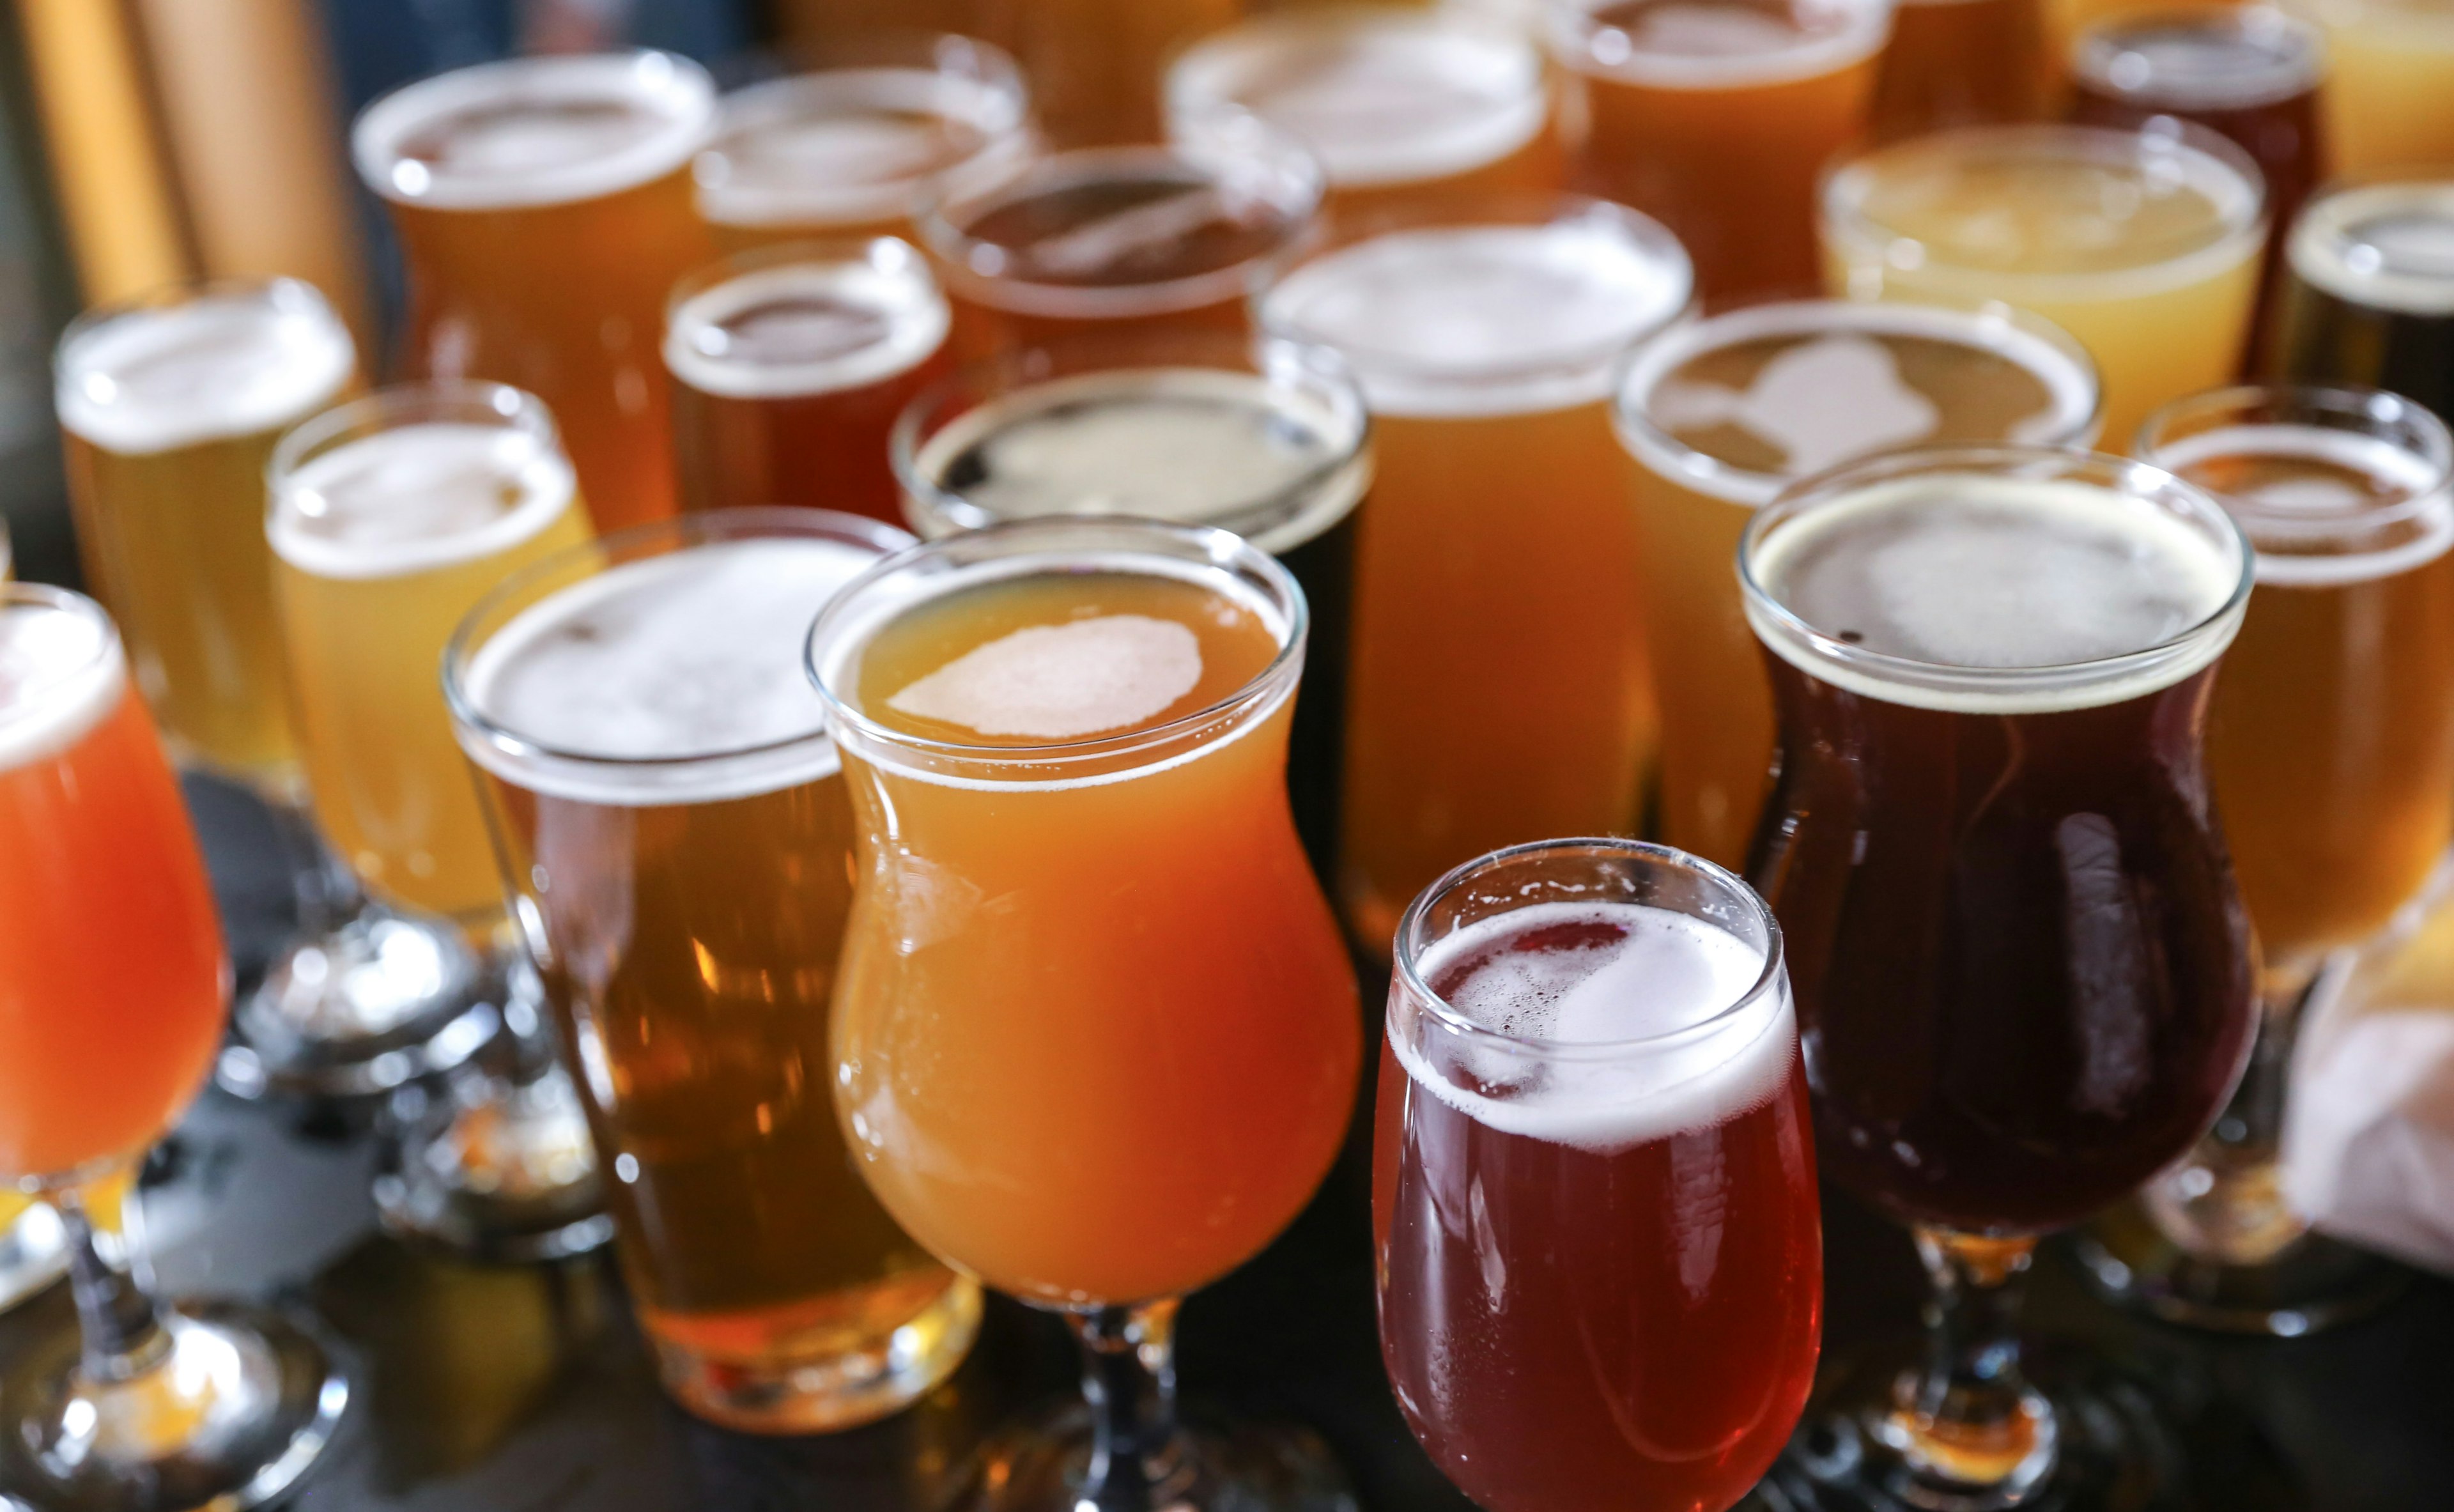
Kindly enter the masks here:
<path id="1" fill-rule="evenodd" d="M 699 218 L 729 253 L 817 236 L 910 236 L 920 206 L 1033 150 L 1031 93 L 1004 52 L 881 34 L 724 96 L 699 152 Z"/>

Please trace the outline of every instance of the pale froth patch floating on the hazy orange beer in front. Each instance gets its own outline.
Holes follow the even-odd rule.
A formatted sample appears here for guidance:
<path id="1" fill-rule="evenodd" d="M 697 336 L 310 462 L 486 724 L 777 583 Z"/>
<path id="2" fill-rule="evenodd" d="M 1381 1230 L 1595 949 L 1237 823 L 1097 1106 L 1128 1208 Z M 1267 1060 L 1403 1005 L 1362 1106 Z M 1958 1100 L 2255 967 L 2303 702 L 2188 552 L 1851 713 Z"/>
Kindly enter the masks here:
<path id="1" fill-rule="evenodd" d="M 987 736 L 1067 741 L 1148 724 L 1200 680 L 1202 643 L 1188 626 L 1102 614 L 974 646 L 886 707 Z"/>

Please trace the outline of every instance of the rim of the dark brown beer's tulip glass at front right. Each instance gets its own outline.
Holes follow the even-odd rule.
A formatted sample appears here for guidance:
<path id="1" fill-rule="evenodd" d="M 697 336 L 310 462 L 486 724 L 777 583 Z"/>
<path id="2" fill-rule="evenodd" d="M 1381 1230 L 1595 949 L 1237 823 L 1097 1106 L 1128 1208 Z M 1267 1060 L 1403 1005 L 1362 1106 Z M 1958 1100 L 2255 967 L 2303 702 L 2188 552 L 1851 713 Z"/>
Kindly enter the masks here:
<path id="1" fill-rule="evenodd" d="M 2022 471 L 2012 471 L 2012 469 Z M 2069 469 L 2061 474 L 2049 474 L 2049 469 Z M 1779 530 L 1784 523 L 1801 513 L 1838 503 L 1855 493 L 1858 488 L 1885 484 L 1902 476 L 1919 474 L 1978 474 L 1978 476 L 2071 476 L 2071 471 L 2098 471 L 2110 474 L 2113 481 L 2096 484 L 2106 491 L 2120 493 L 2135 503 L 2150 508 L 2164 508 L 2160 496 L 2179 498 L 2191 506 L 2201 520 L 2214 523 L 2216 533 L 2233 542 L 2241 557 L 2238 577 L 2233 589 L 2204 616 L 2184 626 L 2182 631 L 2157 641 L 2155 646 L 2140 646 L 2135 650 L 2123 650 L 2115 655 L 2098 655 L 2076 663 L 2049 663 L 2032 668 L 1973 668 L 1956 663 L 1929 663 L 1912 655 L 1892 655 L 1885 650 L 1867 650 L 1865 646 L 1850 646 L 1836 636 L 1826 636 L 1809 621 L 1799 619 L 1787 604 L 1782 604 L 1755 574 L 1755 557 L 1760 555 L 1762 540 Z M 2096 685 L 2118 682 L 2125 668 L 2152 668 L 2162 660 L 2174 658 L 2182 650 L 2196 648 L 2211 636 L 2231 636 L 2241 623 L 2241 611 L 2248 606 L 2250 587 L 2258 582 L 2258 547 L 2250 542 L 2241 520 L 2231 515 L 2206 488 L 2199 488 L 2189 479 L 2179 479 L 2150 461 L 2133 457 L 2110 457 L 2106 452 L 2076 452 L 2069 447 L 1921 447 L 1907 452 L 1885 452 L 1880 457 L 1863 457 L 1858 461 L 1845 461 L 1841 466 L 1799 479 L 1789 488 L 1782 488 L 1779 498 L 1760 508 L 1752 520 L 1747 520 L 1745 535 L 1737 540 L 1737 584 L 1740 596 L 1747 606 L 1747 616 L 1762 614 L 1772 619 L 1782 633 L 1804 641 L 1816 660 L 1836 663 L 1850 673 L 1865 675 L 1877 682 L 1899 685 L 1904 690 L 1924 687 L 1951 687 L 1958 692 L 1975 695 L 2010 695 L 2017 690 L 2054 690 L 2069 685 Z M 2214 658 L 2209 658 L 2214 660 Z M 2162 687 L 2162 685 L 2160 685 Z M 1902 700 L 1907 702 L 1907 700 Z M 2093 704 L 2071 704 L 2093 707 Z"/>

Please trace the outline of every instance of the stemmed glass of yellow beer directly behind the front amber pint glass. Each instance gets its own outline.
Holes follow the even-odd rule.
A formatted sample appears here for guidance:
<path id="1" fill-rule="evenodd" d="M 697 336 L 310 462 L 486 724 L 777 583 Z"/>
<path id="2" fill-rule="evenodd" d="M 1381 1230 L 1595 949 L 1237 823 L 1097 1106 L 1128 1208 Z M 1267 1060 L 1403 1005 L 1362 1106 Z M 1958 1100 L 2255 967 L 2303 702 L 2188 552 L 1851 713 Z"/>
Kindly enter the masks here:
<path id="1" fill-rule="evenodd" d="M 464 1249 L 601 1242 L 587 1127 L 537 1038 L 533 977 L 508 952 L 486 820 L 437 682 L 452 628 L 486 592 L 589 538 L 555 422 L 501 383 L 405 383 L 299 425 L 265 476 L 317 817 L 371 893 L 459 925 L 518 1055 L 439 1102 L 410 1097 L 378 1205 Z"/>

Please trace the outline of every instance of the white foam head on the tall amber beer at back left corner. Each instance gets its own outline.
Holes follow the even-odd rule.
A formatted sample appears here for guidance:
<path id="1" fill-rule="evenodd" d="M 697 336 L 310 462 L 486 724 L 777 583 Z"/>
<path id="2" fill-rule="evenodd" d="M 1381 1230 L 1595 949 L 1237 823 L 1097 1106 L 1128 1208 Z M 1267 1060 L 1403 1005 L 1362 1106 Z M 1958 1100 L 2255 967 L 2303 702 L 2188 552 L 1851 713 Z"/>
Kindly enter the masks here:
<path id="1" fill-rule="evenodd" d="M 400 204 L 528 209 L 663 179 L 714 120 L 717 86 L 685 56 L 525 56 L 395 88 L 358 113 L 351 155 Z"/>

